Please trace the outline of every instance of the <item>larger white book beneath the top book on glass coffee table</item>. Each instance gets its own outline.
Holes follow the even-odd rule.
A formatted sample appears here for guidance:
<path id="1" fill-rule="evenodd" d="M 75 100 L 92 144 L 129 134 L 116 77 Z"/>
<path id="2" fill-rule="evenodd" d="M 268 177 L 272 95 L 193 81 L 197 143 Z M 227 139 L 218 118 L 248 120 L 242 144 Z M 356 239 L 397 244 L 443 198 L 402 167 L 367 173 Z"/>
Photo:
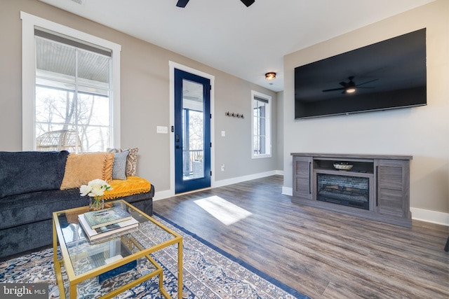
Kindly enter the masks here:
<path id="1" fill-rule="evenodd" d="M 78 221 L 84 232 L 86 232 L 87 237 L 91 241 L 114 235 L 119 232 L 124 232 L 126 230 L 130 230 L 131 228 L 137 228 L 139 225 L 139 221 L 135 220 L 135 218 L 133 217 L 131 217 L 130 220 L 112 223 L 95 229 L 89 226 L 86 218 L 84 217 L 84 214 L 78 215 Z"/>

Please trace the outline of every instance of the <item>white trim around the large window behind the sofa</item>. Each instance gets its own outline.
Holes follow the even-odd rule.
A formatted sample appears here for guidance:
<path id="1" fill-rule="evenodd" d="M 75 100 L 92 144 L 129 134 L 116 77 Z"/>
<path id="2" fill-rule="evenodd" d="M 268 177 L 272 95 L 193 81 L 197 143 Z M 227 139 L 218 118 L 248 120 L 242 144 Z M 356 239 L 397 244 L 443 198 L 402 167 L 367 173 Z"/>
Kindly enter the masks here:
<path id="1" fill-rule="evenodd" d="M 86 41 L 94 45 L 112 50 L 112 145 L 120 147 L 120 52 L 121 45 L 100 39 L 97 36 L 80 32 L 76 29 L 60 25 L 43 18 L 20 11 L 22 19 L 22 151 L 36 150 L 36 136 L 34 130 L 34 92 L 36 45 L 34 43 L 34 28 L 41 27 L 58 32 L 74 39 Z"/>

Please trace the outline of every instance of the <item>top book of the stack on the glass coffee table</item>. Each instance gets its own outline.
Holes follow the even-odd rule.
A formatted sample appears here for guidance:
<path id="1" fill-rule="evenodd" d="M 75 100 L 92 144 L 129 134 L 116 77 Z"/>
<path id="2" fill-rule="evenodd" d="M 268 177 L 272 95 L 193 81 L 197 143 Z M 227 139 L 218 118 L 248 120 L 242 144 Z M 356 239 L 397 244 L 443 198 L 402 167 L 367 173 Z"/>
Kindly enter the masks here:
<path id="1" fill-rule="evenodd" d="M 133 218 L 127 211 L 121 207 L 112 207 L 109 209 L 100 209 L 98 211 L 88 211 L 84 213 L 87 223 L 91 228 L 101 228 L 112 223 L 119 223 Z"/>

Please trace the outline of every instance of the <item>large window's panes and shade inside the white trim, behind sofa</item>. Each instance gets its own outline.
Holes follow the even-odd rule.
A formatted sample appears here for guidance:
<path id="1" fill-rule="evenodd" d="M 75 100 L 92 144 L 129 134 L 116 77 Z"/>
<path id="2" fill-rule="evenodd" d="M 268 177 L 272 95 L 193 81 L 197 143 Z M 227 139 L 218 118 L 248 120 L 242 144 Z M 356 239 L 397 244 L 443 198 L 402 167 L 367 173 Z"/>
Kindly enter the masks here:
<path id="1" fill-rule="evenodd" d="M 36 148 L 105 151 L 112 146 L 111 51 L 34 33 Z"/>

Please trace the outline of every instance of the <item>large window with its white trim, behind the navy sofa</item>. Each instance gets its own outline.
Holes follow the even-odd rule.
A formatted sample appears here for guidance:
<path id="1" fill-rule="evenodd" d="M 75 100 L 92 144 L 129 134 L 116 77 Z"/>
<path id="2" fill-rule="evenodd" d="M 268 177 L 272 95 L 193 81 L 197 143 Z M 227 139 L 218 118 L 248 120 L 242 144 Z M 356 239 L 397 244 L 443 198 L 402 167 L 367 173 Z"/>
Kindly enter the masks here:
<path id="1" fill-rule="evenodd" d="M 119 147 L 120 46 L 26 13 L 21 17 L 24 150 Z"/>

